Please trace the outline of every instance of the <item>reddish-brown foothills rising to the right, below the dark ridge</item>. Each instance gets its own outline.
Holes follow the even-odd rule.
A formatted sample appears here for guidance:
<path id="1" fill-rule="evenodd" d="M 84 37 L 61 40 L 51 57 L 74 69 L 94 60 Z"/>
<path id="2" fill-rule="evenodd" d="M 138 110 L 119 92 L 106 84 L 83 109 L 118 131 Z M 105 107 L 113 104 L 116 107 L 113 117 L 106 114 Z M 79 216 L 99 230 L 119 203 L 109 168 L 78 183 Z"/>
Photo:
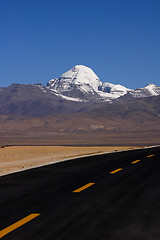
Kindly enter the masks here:
<path id="1" fill-rule="evenodd" d="M 160 96 L 104 104 L 74 114 L 2 116 L 0 126 L 4 132 L 27 134 L 160 129 Z"/>

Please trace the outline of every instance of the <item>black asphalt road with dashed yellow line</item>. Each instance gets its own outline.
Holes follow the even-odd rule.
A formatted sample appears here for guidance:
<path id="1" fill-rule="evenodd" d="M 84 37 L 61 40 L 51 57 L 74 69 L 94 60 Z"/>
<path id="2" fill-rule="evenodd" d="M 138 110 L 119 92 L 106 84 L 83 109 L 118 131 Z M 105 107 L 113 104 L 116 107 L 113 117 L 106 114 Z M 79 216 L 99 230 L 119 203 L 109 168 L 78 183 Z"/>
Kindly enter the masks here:
<path id="1" fill-rule="evenodd" d="M 0 177 L 0 238 L 159 240 L 160 148 Z"/>

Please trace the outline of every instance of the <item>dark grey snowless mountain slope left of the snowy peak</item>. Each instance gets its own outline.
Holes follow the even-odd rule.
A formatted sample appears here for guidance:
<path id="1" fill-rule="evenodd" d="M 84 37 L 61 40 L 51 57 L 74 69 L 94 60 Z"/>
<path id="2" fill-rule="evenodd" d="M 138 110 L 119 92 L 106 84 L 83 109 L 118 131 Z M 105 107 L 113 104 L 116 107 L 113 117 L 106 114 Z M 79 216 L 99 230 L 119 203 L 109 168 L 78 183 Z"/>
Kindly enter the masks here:
<path id="1" fill-rule="evenodd" d="M 78 112 L 90 105 L 60 99 L 42 84 L 12 84 L 0 90 L 0 115 L 47 116 Z"/>

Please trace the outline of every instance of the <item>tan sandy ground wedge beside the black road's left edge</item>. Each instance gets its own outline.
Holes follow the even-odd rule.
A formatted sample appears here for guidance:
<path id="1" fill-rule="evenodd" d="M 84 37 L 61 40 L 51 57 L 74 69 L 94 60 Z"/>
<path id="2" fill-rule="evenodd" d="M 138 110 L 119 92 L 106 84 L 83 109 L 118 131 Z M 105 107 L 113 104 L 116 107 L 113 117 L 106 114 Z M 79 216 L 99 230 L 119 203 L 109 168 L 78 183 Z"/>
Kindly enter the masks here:
<path id="1" fill-rule="evenodd" d="M 137 147 L 0 147 L 0 175 L 64 161 L 69 158 L 134 148 Z"/>

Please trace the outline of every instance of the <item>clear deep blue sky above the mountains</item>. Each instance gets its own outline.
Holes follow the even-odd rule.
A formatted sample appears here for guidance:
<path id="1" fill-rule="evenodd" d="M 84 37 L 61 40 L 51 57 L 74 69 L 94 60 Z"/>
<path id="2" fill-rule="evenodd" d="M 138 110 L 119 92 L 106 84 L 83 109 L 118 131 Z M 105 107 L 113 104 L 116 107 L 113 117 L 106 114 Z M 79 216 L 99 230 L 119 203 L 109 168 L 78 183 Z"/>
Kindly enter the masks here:
<path id="1" fill-rule="evenodd" d="M 0 0 L 0 86 L 77 64 L 101 81 L 160 86 L 159 0 Z"/>

